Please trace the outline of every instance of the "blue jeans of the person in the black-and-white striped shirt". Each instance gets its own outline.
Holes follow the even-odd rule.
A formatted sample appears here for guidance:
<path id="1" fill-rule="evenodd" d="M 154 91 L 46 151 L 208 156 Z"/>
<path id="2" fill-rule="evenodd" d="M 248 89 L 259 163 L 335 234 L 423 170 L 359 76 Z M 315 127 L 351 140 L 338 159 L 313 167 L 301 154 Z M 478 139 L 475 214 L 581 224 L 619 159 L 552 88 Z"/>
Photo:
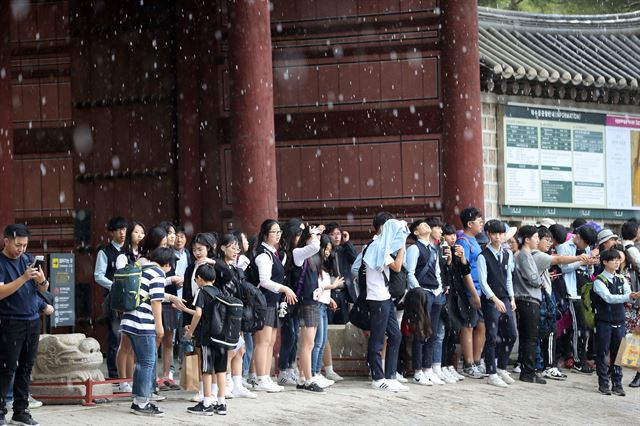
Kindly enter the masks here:
<path id="1" fill-rule="evenodd" d="M 127 333 L 136 356 L 133 370 L 133 395 L 148 400 L 156 386 L 156 336 Z"/>

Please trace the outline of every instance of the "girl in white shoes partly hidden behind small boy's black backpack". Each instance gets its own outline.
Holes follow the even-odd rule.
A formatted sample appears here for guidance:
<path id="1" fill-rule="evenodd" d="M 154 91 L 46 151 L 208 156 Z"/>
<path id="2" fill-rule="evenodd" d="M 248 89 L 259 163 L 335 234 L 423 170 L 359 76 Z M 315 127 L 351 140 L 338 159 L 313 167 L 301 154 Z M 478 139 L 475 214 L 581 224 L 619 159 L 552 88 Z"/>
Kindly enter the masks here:
<path id="1" fill-rule="evenodd" d="M 235 266 L 239 252 L 238 239 L 234 234 L 225 234 L 220 238 L 220 245 L 218 246 L 220 262 L 216 262 L 215 265 L 218 277 L 215 285 L 223 292 L 242 300 L 241 285 L 242 280 L 244 280 L 244 273 L 242 269 Z M 239 344 L 235 349 L 228 351 L 226 390 L 227 396 L 233 398 L 256 397 L 256 394 L 249 391 L 242 384 L 242 356 L 244 352 L 243 344 Z"/>

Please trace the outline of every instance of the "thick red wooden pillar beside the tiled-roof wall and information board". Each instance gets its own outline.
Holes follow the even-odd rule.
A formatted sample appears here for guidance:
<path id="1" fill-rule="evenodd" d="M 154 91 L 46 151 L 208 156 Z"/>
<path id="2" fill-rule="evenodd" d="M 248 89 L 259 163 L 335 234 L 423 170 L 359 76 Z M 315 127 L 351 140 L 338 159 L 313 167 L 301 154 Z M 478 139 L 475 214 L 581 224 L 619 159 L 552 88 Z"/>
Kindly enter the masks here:
<path id="1" fill-rule="evenodd" d="M 482 125 L 478 10 L 475 1 L 443 0 L 443 212 L 459 223 L 468 206 L 482 210 Z"/>

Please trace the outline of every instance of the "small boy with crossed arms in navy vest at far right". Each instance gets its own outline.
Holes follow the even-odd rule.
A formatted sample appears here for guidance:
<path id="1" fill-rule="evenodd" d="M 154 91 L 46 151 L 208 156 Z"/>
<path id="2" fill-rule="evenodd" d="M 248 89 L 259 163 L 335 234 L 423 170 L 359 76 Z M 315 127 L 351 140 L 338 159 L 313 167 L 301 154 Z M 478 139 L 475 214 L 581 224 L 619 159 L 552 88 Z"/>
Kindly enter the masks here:
<path id="1" fill-rule="evenodd" d="M 600 253 L 604 271 L 593 283 L 591 303 L 596 319 L 596 370 L 598 391 L 603 395 L 625 396 L 622 388 L 622 368 L 613 362 L 625 335 L 624 303 L 640 298 L 640 292 L 631 293 L 631 287 L 617 273 L 622 255 L 614 248 Z M 607 359 L 609 353 L 609 359 Z M 609 374 L 612 389 L 609 390 Z"/>

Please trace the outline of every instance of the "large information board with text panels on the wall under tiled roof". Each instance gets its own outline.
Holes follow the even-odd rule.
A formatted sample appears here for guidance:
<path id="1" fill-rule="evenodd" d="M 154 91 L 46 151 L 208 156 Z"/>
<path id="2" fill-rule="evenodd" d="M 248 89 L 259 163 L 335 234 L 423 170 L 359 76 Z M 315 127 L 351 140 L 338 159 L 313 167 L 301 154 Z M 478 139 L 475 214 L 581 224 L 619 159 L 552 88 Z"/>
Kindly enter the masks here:
<path id="1" fill-rule="evenodd" d="M 640 211 L 640 117 L 507 105 L 502 132 L 504 214 Z"/>

